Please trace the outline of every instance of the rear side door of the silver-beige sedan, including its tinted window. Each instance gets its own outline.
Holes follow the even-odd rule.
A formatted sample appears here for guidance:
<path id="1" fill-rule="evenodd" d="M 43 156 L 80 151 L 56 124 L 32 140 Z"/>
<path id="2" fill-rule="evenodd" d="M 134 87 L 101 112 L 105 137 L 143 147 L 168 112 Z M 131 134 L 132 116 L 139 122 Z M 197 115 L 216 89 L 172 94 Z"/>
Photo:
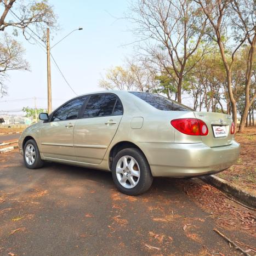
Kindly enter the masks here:
<path id="1" fill-rule="evenodd" d="M 123 107 L 115 94 L 91 95 L 74 130 L 78 162 L 99 164 L 115 136 Z"/>

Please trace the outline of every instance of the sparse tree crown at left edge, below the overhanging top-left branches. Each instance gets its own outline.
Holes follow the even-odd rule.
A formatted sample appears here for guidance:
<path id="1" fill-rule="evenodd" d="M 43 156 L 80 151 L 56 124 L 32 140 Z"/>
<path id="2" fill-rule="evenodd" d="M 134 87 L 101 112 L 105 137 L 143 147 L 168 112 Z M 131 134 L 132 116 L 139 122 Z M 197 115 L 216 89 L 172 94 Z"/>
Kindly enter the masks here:
<path id="1" fill-rule="evenodd" d="M 5 95 L 4 80 L 10 70 L 28 70 L 29 64 L 24 60 L 21 44 L 6 33 L 0 36 L 0 94 Z"/>

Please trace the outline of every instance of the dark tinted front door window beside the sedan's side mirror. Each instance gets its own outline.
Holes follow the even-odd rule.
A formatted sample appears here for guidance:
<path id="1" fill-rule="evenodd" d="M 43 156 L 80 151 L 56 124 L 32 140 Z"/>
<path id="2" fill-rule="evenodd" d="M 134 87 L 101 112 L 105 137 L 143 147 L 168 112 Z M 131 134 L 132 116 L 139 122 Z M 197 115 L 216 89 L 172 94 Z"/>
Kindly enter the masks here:
<path id="1" fill-rule="evenodd" d="M 56 122 L 76 119 L 78 117 L 78 112 L 86 99 L 88 99 L 88 96 L 72 100 L 60 107 L 60 109 L 53 113 L 52 121 Z"/>

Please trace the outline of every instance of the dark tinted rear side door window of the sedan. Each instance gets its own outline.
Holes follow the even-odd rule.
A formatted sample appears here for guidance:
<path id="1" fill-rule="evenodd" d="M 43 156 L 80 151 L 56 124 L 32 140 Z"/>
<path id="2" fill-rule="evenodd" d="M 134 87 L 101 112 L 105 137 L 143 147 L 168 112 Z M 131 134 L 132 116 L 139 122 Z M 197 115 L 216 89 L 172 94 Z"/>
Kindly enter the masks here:
<path id="1" fill-rule="evenodd" d="M 90 96 L 83 117 L 110 116 L 116 103 L 116 96 L 101 94 Z"/>

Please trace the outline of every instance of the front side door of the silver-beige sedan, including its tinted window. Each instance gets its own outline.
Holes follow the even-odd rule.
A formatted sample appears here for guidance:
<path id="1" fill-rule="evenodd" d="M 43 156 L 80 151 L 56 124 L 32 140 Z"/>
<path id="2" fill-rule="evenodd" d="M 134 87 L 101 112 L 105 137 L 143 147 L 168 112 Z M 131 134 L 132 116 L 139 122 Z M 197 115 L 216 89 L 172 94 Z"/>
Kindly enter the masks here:
<path id="1" fill-rule="evenodd" d="M 41 151 L 44 157 L 75 161 L 73 134 L 78 113 L 86 97 L 71 100 L 56 110 L 50 122 L 41 129 Z"/>

